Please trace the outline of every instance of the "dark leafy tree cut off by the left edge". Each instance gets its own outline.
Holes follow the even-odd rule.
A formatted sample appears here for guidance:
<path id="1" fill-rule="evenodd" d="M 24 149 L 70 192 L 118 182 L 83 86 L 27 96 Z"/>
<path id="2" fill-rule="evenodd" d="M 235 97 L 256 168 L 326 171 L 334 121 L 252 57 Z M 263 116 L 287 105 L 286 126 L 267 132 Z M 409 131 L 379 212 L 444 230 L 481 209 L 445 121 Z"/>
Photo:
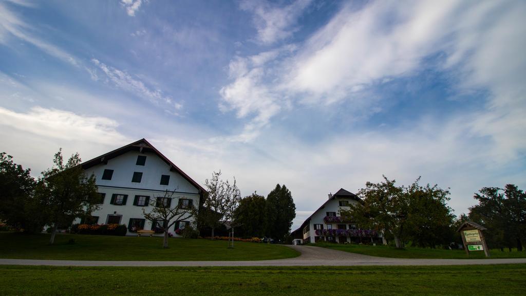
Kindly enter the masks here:
<path id="1" fill-rule="evenodd" d="M 0 153 L 0 220 L 28 233 L 42 231 L 45 224 L 30 172 L 14 163 L 13 156 Z"/>

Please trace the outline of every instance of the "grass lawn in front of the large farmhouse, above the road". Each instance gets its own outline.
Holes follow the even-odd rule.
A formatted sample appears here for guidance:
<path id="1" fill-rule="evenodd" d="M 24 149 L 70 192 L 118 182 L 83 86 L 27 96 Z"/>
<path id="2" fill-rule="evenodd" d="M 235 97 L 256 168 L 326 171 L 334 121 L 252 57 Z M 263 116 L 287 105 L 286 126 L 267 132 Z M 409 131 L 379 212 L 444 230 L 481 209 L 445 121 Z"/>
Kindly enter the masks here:
<path id="1" fill-rule="evenodd" d="M 74 244 L 68 244 L 74 239 Z M 48 245 L 49 234 L 0 232 L 0 258 L 54 260 L 133 260 L 133 261 L 222 261 L 292 258 L 298 252 L 283 245 L 226 241 L 175 239 L 163 249 L 162 238 L 57 234 Z M 1 286 L 0 286 L 1 287 Z M 2 289 L 0 289 L 1 293 Z"/>

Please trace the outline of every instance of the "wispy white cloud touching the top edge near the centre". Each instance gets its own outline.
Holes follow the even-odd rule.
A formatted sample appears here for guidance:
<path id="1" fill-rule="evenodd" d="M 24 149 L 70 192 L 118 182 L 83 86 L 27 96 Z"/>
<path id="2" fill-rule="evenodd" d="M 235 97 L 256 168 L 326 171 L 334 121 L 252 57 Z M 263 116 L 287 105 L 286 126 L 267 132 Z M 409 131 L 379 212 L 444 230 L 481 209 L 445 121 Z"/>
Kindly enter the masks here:
<path id="1" fill-rule="evenodd" d="M 285 7 L 278 7 L 269 2 L 246 0 L 240 7 L 244 11 L 254 13 L 254 24 L 258 31 L 258 41 L 272 44 L 284 40 L 296 31 L 294 27 L 297 18 L 311 0 L 297 0 Z"/>

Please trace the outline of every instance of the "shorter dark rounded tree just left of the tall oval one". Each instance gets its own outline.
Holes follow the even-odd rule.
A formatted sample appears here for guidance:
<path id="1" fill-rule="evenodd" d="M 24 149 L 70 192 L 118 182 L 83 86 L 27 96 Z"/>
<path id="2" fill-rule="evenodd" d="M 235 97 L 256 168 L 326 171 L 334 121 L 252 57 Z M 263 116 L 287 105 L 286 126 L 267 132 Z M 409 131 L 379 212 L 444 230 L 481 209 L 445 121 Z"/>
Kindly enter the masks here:
<path id="1" fill-rule="evenodd" d="M 244 236 L 261 237 L 265 235 L 265 196 L 256 192 L 245 196 L 235 213 L 236 224 Z"/>

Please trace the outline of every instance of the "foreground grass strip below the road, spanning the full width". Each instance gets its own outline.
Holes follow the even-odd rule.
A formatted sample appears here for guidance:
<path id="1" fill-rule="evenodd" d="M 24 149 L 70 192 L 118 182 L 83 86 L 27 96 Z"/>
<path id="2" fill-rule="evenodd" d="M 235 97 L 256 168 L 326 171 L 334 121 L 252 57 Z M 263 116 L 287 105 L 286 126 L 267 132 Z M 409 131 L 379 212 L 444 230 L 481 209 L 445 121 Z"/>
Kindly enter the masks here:
<path id="1" fill-rule="evenodd" d="M 526 264 L 433 267 L 0 266 L 1 295 L 525 295 Z"/>

